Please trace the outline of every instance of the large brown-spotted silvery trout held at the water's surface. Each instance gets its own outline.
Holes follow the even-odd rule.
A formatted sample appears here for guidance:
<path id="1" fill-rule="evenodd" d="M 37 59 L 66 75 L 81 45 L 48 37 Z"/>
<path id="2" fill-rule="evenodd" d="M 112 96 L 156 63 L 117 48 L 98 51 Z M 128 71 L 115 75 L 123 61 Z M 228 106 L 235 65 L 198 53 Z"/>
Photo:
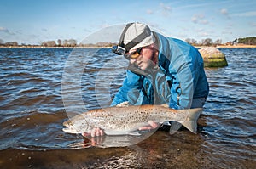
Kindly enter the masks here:
<path id="1" fill-rule="evenodd" d="M 138 128 L 148 126 L 148 121 L 164 123 L 177 121 L 190 132 L 197 132 L 197 120 L 202 108 L 173 110 L 162 105 L 130 105 L 89 110 L 63 122 L 64 132 L 84 133 L 101 128 L 107 135 L 140 135 Z"/>

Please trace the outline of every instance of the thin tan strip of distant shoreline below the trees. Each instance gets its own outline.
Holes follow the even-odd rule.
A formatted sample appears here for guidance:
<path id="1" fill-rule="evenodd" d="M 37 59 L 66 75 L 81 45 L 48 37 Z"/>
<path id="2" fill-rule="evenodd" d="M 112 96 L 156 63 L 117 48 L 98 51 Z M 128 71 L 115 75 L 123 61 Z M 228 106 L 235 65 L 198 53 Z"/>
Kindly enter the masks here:
<path id="1" fill-rule="evenodd" d="M 206 48 L 210 46 L 194 46 Z M 111 47 L 44 47 L 44 46 L 0 46 L 0 48 L 111 48 Z M 256 48 L 256 45 L 218 45 L 215 48 Z"/>

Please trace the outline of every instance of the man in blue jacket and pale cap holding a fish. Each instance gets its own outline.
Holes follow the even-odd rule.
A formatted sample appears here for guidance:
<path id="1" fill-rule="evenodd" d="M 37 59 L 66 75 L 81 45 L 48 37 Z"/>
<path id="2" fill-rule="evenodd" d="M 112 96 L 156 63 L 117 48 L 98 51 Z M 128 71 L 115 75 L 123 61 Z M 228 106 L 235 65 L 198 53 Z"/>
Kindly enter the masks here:
<path id="1" fill-rule="evenodd" d="M 130 64 L 112 106 L 128 102 L 167 104 L 177 110 L 203 107 L 209 87 L 203 59 L 193 46 L 151 31 L 148 25 L 129 23 L 113 52 L 123 54 Z M 148 123 L 157 127 L 154 121 Z M 102 135 L 102 130 L 91 133 Z"/>

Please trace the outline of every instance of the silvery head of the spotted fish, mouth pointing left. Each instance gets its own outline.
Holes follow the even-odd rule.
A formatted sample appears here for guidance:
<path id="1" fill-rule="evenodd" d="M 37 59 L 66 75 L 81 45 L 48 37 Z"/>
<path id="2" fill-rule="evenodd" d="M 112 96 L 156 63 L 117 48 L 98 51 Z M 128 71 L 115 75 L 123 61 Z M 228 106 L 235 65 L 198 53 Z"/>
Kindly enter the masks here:
<path id="1" fill-rule="evenodd" d="M 90 123 L 86 121 L 83 115 L 76 115 L 72 119 L 63 122 L 62 130 L 68 133 L 84 133 L 90 132 Z"/>

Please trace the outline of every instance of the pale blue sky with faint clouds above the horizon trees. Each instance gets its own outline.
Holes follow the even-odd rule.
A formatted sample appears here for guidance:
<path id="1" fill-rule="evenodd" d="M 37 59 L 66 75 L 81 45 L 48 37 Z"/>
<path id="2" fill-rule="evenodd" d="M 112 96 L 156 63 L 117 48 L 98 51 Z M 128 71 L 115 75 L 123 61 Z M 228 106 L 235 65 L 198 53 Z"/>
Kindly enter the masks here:
<path id="1" fill-rule="evenodd" d="M 108 27 L 141 22 L 167 37 L 230 42 L 256 37 L 252 0 L 1 0 L 0 39 L 39 44 L 93 37 Z M 119 31 L 117 31 L 119 34 Z M 106 31 L 105 31 L 106 33 Z M 111 40 L 112 41 L 112 40 Z M 114 40 L 115 41 L 115 40 Z M 118 41 L 118 39 L 116 40 Z"/>

